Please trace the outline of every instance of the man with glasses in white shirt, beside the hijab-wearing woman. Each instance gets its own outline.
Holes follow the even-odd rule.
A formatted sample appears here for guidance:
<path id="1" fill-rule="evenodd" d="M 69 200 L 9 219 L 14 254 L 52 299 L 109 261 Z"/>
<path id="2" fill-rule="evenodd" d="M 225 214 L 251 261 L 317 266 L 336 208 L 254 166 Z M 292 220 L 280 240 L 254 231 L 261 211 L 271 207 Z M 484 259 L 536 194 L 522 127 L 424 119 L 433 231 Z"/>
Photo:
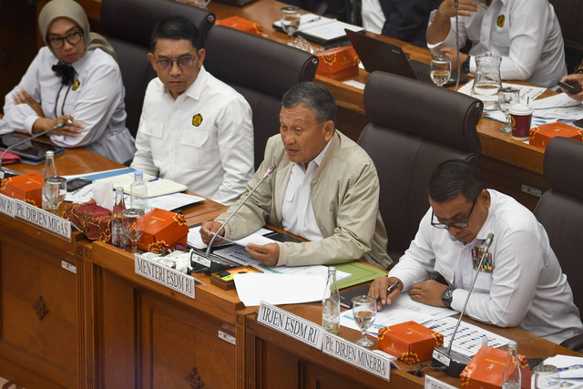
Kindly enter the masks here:
<path id="1" fill-rule="evenodd" d="M 150 46 L 158 77 L 146 90 L 131 167 L 232 203 L 253 176 L 249 103 L 207 73 L 199 31 L 188 19 L 159 22 Z"/>

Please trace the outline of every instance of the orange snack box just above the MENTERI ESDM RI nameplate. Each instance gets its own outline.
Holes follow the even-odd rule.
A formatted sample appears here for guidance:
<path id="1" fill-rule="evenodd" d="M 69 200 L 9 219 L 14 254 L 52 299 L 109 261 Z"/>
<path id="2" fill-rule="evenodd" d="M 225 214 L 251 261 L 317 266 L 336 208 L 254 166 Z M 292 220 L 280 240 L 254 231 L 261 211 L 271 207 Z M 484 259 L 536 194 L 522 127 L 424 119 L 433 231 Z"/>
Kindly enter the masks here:
<path id="1" fill-rule="evenodd" d="M 169 210 L 150 210 L 142 216 L 144 233 L 139 238 L 138 249 L 159 252 L 166 248 L 172 250 L 186 249 L 186 238 L 189 226 L 184 215 Z"/>

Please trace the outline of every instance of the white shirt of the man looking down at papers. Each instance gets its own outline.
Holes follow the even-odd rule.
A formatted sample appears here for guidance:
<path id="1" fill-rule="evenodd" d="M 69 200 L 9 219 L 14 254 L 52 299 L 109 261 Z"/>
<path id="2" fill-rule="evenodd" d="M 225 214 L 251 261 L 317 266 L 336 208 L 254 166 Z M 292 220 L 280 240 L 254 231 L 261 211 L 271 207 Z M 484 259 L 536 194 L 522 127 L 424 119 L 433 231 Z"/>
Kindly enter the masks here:
<path id="1" fill-rule="evenodd" d="M 555 343 L 582 333 L 573 292 L 547 232 L 517 200 L 496 190 L 489 192 L 488 216 L 474 241 L 464 244 L 447 230 L 433 227 L 428 210 L 414 241 L 389 276 L 400 279 L 408 290 L 439 273 L 456 288 L 452 308 L 461 311 L 475 275 L 472 250 L 483 247 L 492 232 L 494 241 L 488 252 L 493 271 L 478 275 L 466 314 L 500 327 L 518 326 Z"/>

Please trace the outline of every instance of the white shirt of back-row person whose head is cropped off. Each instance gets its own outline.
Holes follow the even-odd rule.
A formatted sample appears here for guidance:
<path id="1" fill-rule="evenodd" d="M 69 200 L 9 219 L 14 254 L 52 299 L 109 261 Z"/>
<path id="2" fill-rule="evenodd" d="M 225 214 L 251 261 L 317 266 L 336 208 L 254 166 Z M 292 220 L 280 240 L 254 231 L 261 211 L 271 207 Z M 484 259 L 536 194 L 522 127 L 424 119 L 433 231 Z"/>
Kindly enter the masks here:
<path id="1" fill-rule="evenodd" d="M 434 11 L 429 24 L 434 20 Z M 437 46 L 455 47 L 455 17 L 442 44 L 428 45 L 435 53 Z M 480 2 L 476 14 L 459 17 L 459 42 L 472 42 L 470 56 L 489 51 L 502 56 L 500 75 L 503 79 L 526 80 L 541 87 L 556 87 L 567 74 L 563 36 L 553 5 L 548 0 L 493 0 L 490 6 Z M 476 72 L 472 58 L 470 71 Z"/>

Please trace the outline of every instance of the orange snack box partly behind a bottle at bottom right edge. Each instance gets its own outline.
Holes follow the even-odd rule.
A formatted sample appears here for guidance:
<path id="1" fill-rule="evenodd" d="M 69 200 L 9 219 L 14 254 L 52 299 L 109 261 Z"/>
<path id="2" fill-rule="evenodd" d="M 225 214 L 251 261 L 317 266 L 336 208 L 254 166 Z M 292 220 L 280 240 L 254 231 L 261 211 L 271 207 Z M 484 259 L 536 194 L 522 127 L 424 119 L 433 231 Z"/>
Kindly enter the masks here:
<path id="1" fill-rule="evenodd" d="M 507 355 L 504 350 L 482 346 L 460 374 L 462 386 L 467 389 L 500 388 Z M 518 365 L 524 377 L 521 380 L 521 387 L 530 388 L 530 368 L 524 355 L 518 355 Z"/>

